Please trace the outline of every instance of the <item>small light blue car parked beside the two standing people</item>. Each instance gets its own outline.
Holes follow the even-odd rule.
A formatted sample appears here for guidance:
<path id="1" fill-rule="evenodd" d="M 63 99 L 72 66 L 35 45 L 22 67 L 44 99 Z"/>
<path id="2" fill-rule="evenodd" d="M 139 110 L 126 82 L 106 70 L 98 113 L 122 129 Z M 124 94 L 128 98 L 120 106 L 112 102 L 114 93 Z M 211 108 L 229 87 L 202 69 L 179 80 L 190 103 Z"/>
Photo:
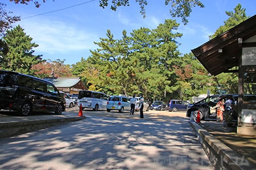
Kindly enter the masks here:
<path id="1" fill-rule="evenodd" d="M 120 113 L 123 113 L 123 111 L 130 112 L 130 98 L 125 96 L 110 96 L 106 108 L 107 112 L 112 110 L 119 111 Z"/>

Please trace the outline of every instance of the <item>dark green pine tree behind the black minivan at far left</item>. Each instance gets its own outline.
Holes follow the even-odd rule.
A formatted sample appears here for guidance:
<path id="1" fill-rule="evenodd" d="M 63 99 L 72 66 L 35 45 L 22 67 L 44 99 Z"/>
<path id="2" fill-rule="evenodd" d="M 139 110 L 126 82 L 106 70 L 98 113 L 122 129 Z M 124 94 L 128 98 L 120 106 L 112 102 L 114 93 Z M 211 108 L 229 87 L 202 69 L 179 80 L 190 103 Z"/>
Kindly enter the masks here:
<path id="1" fill-rule="evenodd" d="M 20 25 L 7 31 L 3 37 L 8 52 L 0 58 L 0 67 L 2 70 L 17 71 L 19 73 L 32 75 L 31 67 L 41 62 L 41 56 L 34 56 L 38 44 L 31 42 L 32 38 L 24 32 Z"/>

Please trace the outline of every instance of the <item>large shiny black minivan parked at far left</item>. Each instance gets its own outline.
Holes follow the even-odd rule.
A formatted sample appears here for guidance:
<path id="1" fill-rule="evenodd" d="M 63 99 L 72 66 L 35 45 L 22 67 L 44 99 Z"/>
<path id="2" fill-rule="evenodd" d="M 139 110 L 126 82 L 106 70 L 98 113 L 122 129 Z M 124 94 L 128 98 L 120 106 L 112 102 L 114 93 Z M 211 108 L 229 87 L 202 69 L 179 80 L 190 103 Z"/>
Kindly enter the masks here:
<path id="1" fill-rule="evenodd" d="M 57 88 L 34 76 L 0 70 L 0 110 L 18 111 L 21 116 L 31 112 L 65 111 L 65 99 Z"/>

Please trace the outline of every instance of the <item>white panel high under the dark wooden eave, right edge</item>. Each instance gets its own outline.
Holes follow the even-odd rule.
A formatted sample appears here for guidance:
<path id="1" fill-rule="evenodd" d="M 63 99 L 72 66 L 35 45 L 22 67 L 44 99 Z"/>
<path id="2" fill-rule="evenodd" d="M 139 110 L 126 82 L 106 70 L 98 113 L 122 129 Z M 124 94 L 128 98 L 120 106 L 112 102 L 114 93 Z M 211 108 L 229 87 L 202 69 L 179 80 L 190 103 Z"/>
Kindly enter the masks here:
<path id="1" fill-rule="evenodd" d="M 242 49 L 242 65 L 256 65 L 256 46 Z"/>

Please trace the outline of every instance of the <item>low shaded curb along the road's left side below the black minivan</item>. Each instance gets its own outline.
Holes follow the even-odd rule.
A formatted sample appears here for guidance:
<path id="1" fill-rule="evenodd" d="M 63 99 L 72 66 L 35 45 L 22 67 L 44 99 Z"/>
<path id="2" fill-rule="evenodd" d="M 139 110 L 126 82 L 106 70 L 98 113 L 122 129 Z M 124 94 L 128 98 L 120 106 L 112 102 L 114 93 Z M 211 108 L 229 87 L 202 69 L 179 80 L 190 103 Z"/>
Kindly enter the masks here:
<path id="1" fill-rule="evenodd" d="M 6 122 L 0 124 L 0 138 L 36 131 L 50 126 L 61 125 L 72 121 L 82 120 L 85 117 L 52 118 L 47 120 L 28 120 L 20 122 Z"/>

